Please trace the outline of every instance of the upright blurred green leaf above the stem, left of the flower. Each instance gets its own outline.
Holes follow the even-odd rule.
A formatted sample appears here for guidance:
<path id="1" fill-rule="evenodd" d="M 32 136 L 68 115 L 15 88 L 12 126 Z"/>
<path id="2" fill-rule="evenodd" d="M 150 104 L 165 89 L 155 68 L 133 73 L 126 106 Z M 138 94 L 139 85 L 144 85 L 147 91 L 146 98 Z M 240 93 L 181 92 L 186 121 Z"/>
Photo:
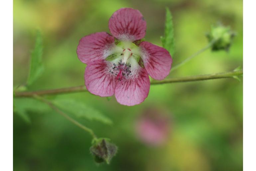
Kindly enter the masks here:
<path id="1" fill-rule="evenodd" d="M 37 31 L 35 47 L 31 52 L 30 59 L 30 72 L 27 81 L 27 85 L 31 85 L 36 81 L 43 73 L 44 67 L 42 64 L 43 54 L 43 40 L 40 31 Z"/>

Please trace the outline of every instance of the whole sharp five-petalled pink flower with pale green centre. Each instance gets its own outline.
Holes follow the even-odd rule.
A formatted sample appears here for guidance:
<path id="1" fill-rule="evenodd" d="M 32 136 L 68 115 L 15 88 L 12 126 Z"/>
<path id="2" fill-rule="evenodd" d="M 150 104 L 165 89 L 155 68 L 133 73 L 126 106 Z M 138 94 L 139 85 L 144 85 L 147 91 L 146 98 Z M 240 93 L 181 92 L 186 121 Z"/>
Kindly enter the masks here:
<path id="1" fill-rule="evenodd" d="M 172 57 L 166 49 L 141 41 L 146 21 L 138 10 L 117 10 L 108 27 L 113 36 L 94 33 L 83 37 L 77 46 L 78 58 L 87 64 L 85 86 L 101 97 L 115 95 L 122 105 L 140 104 L 149 93 L 148 75 L 164 79 L 170 72 Z"/>

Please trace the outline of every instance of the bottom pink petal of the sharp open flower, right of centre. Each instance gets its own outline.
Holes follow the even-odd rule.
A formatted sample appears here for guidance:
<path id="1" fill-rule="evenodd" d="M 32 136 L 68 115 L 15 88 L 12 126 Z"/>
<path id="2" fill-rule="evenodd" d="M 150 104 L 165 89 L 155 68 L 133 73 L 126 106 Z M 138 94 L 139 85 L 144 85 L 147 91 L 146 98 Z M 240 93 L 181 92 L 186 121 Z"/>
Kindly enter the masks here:
<path id="1" fill-rule="evenodd" d="M 148 97 L 150 88 L 149 76 L 141 68 L 137 78 L 116 82 L 115 97 L 118 103 L 133 106 L 142 103 Z"/>

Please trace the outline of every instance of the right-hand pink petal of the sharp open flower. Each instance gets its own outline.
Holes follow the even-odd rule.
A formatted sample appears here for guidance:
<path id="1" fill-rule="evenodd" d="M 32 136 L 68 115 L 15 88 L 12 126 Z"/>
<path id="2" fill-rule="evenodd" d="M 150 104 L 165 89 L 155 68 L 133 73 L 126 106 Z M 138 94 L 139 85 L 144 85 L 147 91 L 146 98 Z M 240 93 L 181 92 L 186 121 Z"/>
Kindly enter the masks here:
<path id="1" fill-rule="evenodd" d="M 173 59 L 165 48 L 149 42 L 140 43 L 140 48 L 144 66 L 152 78 L 162 80 L 169 75 Z"/>

